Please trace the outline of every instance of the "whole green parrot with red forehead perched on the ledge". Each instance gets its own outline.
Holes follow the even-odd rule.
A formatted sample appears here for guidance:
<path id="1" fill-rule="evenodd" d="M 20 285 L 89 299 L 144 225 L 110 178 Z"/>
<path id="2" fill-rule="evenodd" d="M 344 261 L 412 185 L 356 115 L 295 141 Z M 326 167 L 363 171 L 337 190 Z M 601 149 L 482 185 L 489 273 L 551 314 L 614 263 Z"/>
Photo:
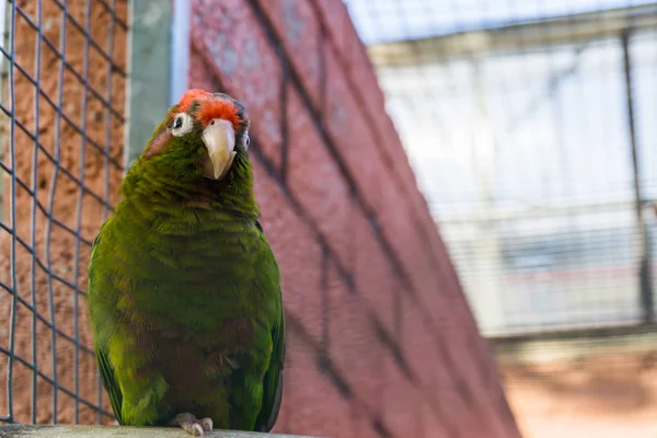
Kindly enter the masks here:
<path id="1" fill-rule="evenodd" d="M 119 424 L 269 431 L 285 315 L 258 222 L 249 118 L 189 90 L 122 184 L 89 266 L 94 348 Z"/>

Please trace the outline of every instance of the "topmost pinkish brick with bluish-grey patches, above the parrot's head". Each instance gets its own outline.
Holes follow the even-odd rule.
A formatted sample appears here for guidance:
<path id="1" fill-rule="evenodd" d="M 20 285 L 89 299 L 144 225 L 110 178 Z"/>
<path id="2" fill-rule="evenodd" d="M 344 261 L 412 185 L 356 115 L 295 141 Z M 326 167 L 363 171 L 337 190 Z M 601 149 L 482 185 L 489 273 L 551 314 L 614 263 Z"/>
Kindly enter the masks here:
<path id="1" fill-rule="evenodd" d="M 247 0 L 195 0 L 192 45 L 218 76 L 226 92 L 244 103 L 254 145 L 280 165 L 283 72 L 280 61 Z M 195 55 L 196 56 L 196 55 Z M 194 62 L 194 61 L 193 61 Z M 191 69 L 191 83 L 200 82 Z"/>

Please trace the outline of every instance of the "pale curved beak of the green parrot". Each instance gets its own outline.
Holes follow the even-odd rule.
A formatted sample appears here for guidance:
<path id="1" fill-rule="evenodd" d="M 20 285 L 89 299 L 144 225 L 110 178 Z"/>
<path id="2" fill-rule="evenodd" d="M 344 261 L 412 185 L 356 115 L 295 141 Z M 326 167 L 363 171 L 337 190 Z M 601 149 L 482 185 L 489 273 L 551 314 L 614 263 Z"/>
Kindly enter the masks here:
<path id="1" fill-rule="evenodd" d="M 203 174 L 211 180 L 221 180 L 237 155 L 235 130 L 222 118 L 211 119 L 203 131 L 201 140 L 208 150 L 209 160 L 204 163 Z"/>

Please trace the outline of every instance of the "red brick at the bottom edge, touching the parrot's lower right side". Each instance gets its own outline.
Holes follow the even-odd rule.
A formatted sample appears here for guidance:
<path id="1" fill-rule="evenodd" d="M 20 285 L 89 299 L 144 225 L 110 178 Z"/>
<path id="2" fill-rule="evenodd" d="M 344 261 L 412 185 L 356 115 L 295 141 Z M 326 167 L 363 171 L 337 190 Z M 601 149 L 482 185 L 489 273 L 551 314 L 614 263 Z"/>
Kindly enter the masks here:
<path id="1" fill-rule="evenodd" d="M 353 424 L 351 402 L 318 369 L 314 353 L 296 342 L 293 333 L 290 337 L 292 342 L 287 349 L 281 418 L 276 431 L 348 437 Z"/>

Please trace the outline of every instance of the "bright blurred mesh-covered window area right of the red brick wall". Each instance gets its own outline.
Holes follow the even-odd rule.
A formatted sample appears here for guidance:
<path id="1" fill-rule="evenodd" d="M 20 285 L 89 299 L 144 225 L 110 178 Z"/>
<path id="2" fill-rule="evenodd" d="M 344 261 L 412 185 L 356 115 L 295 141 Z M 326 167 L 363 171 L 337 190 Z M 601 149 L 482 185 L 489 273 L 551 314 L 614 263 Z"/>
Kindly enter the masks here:
<path id="1" fill-rule="evenodd" d="M 652 324 L 657 3 L 347 4 L 482 330 Z"/>

